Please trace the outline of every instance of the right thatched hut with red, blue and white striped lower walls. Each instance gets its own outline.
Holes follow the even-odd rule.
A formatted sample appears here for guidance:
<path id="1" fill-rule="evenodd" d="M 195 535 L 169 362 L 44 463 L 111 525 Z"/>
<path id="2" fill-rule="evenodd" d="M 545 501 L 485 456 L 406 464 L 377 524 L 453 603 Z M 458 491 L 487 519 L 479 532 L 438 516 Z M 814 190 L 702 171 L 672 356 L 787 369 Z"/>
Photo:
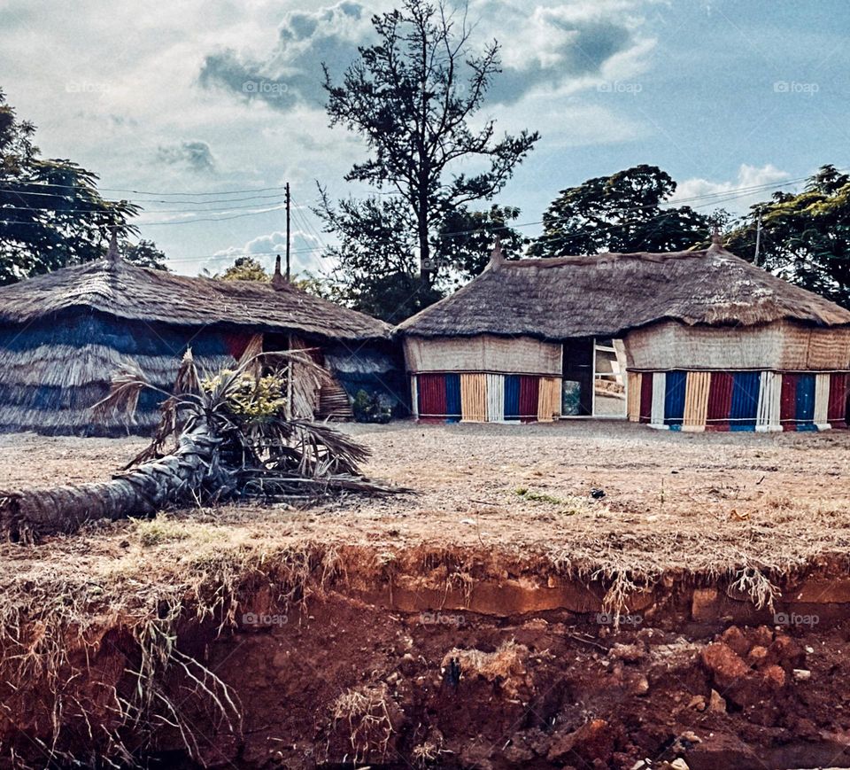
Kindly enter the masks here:
<path id="1" fill-rule="evenodd" d="M 850 311 L 727 252 L 505 261 L 400 324 L 414 413 L 846 427 Z"/>

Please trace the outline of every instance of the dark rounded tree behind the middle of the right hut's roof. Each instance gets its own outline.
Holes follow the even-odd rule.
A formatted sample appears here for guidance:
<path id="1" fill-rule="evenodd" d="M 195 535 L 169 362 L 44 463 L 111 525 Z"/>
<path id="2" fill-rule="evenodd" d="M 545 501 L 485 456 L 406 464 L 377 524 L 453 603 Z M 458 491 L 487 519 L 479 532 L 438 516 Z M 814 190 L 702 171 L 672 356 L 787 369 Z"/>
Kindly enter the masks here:
<path id="1" fill-rule="evenodd" d="M 707 239 L 711 217 L 690 206 L 661 207 L 676 183 L 656 166 L 636 166 L 560 191 L 529 253 L 672 252 Z"/>

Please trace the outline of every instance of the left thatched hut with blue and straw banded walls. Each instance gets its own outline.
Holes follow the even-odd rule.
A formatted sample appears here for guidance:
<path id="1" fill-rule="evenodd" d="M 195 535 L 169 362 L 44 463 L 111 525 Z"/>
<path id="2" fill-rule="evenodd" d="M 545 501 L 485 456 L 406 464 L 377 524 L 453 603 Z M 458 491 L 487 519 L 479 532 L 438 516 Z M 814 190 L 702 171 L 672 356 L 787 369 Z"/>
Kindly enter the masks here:
<path id="1" fill-rule="evenodd" d="M 149 432 L 156 394 L 142 396 L 131 420 L 93 420 L 90 407 L 117 370 L 140 370 L 167 391 L 188 349 L 212 373 L 249 346 L 305 348 L 333 376 L 292 378 L 294 416 L 351 416 L 359 389 L 397 407 L 406 393 L 390 327 L 301 291 L 279 261 L 271 283 L 220 281 L 135 267 L 111 249 L 105 260 L 0 288 L 0 430 Z"/>

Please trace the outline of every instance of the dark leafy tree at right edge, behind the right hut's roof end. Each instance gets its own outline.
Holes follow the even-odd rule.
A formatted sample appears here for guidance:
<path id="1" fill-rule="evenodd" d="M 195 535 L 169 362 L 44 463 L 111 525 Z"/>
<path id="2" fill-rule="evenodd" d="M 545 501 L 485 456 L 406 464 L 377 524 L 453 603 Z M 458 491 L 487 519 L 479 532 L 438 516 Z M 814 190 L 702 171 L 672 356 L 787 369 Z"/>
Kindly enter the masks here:
<path id="1" fill-rule="evenodd" d="M 750 206 L 726 239 L 727 248 L 811 292 L 850 307 L 850 176 L 827 165 L 800 193 L 776 192 Z"/>

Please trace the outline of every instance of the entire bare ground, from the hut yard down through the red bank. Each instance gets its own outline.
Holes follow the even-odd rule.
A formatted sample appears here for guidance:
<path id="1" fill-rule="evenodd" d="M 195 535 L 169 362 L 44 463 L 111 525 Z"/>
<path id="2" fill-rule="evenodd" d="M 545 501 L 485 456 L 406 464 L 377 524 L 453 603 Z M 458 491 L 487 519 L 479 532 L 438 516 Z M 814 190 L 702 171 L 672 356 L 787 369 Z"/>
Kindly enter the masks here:
<path id="1" fill-rule="evenodd" d="M 850 766 L 850 433 L 342 430 L 415 494 L 0 544 L 0 767 L 44 766 L 53 740 L 83 766 L 114 756 L 100 722 L 151 767 Z M 108 478 L 143 444 L 0 436 L 0 489 Z M 791 575 L 792 619 L 753 609 L 765 583 L 733 590 L 745 574 Z M 618 579 L 619 630 L 599 604 Z M 536 604 L 562 585 L 566 605 Z M 167 704 L 141 730 L 114 707 L 140 659 Z"/>

